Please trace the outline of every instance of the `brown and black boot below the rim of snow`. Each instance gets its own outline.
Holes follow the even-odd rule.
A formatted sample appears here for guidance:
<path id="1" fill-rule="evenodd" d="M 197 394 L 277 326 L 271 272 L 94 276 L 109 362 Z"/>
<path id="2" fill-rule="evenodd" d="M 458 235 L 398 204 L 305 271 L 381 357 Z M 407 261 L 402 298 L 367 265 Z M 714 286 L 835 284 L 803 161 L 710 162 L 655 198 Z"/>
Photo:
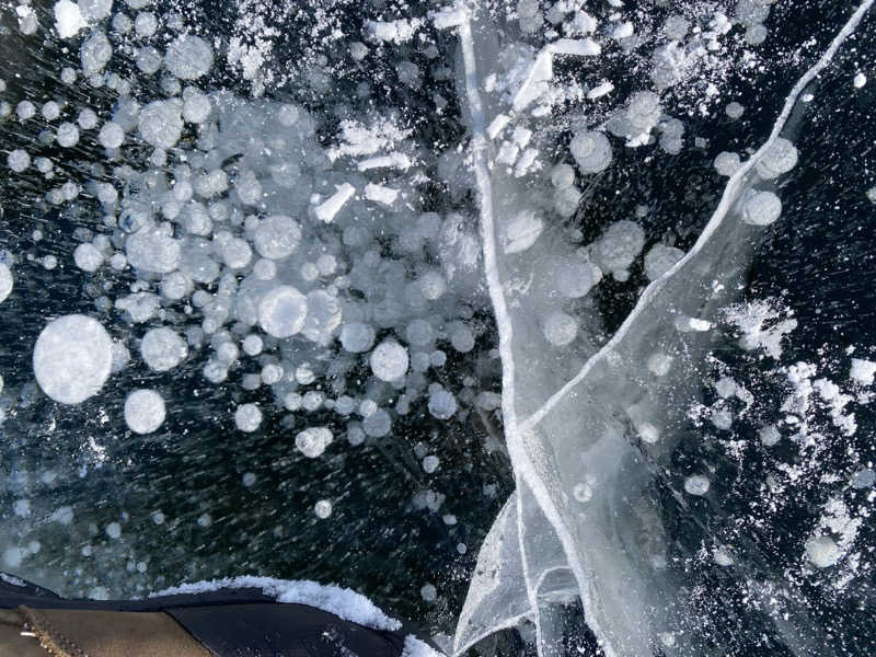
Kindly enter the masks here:
<path id="1" fill-rule="evenodd" d="M 408 634 L 260 589 L 67 600 L 0 577 L 0 657 L 399 657 Z"/>

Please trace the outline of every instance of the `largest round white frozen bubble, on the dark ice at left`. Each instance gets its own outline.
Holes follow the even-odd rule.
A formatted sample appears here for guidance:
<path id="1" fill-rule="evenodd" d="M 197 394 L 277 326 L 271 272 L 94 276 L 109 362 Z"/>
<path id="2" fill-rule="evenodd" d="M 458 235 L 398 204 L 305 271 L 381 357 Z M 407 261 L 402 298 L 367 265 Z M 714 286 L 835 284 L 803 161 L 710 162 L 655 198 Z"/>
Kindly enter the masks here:
<path id="1" fill-rule="evenodd" d="M 113 341 L 92 318 L 71 314 L 49 322 L 34 347 L 39 388 L 62 404 L 79 404 L 97 394 L 110 377 Z"/>

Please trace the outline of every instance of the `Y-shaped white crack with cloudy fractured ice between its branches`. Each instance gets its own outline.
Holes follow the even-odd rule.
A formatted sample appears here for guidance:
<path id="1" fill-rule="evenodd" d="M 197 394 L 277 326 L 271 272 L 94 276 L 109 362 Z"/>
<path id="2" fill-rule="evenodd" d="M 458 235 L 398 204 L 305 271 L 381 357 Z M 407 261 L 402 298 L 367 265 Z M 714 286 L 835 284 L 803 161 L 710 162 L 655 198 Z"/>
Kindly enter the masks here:
<path id="1" fill-rule="evenodd" d="M 526 191 L 509 175 L 488 171 L 485 157 L 491 148 L 485 128 L 499 105 L 484 100 L 488 94 L 483 92 L 481 71 L 491 68 L 491 54 L 496 51 L 485 36 L 489 28 L 477 19 L 460 27 L 464 73 L 458 77 L 465 79 L 460 87 L 468 92 L 474 132 L 484 262 L 499 332 L 503 411 L 517 493 L 482 548 L 456 652 L 526 615 L 535 624 L 539 654 L 557 654 L 562 635 L 541 622 L 542 596 L 555 592 L 545 590 L 550 587 L 544 583 L 557 570 L 575 575 L 585 618 L 607 655 L 707 650 L 710 638 L 698 626 L 702 611 L 687 589 L 683 566 L 673 567 L 667 558 L 670 545 L 657 499 L 673 498 L 680 514 L 691 500 L 667 476 L 670 457 L 675 436 L 707 377 L 706 355 L 716 344 L 712 328 L 721 324 L 723 309 L 738 300 L 762 234 L 759 222 L 746 216 L 751 189 L 773 177 L 758 164 L 771 157 L 780 137 L 805 139 L 799 97 L 871 4 L 855 10 L 791 90 L 770 138 L 730 177 L 693 249 L 644 290 L 608 344 L 572 353 L 543 346 L 540 319 L 552 304 L 550 284 L 546 295 L 538 284 L 518 285 L 527 276 L 531 280 L 533 268 L 538 278 L 538 267 L 557 257 L 550 239 L 542 237 L 521 257 L 514 250 L 503 251 L 496 237 L 528 201 Z M 537 59 L 533 69 L 538 66 Z M 797 116 L 788 124 L 795 110 Z M 595 321 L 580 319 L 584 326 Z M 649 368 L 654 359 L 668 362 L 668 371 Z M 587 499 L 576 499 L 580 486 L 586 486 L 581 496 Z M 752 562 L 765 558 L 753 543 L 747 548 Z M 525 586 L 507 581 L 518 581 L 521 575 Z M 562 593 L 574 595 L 568 578 L 561 581 Z M 772 634 L 795 655 L 832 654 L 829 635 L 799 602 L 799 591 L 785 586 L 784 612 L 769 614 Z"/>

